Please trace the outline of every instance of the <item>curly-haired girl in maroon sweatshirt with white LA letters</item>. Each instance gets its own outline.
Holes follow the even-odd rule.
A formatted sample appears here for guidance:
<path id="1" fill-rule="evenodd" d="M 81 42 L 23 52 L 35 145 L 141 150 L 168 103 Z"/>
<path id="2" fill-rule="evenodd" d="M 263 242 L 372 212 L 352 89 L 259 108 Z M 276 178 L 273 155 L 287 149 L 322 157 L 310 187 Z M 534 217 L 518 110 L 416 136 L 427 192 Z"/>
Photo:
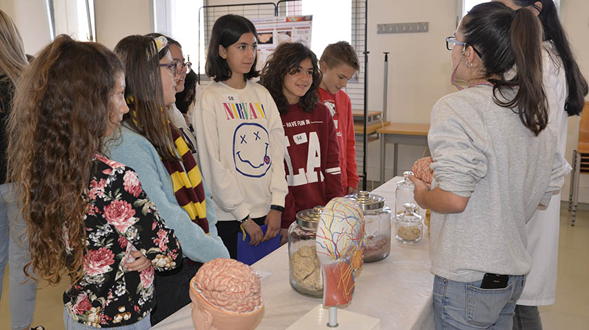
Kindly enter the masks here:
<path id="1" fill-rule="evenodd" d="M 339 145 L 333 117 L 319 102 L 317 56 L 306 45 L 281 43 L 264 65 L 260 82 L 276 102 L 288 140 L 284 154 L 288 195 L 281 223 L 286 238 L 297 212 L 343 196 Z"/>

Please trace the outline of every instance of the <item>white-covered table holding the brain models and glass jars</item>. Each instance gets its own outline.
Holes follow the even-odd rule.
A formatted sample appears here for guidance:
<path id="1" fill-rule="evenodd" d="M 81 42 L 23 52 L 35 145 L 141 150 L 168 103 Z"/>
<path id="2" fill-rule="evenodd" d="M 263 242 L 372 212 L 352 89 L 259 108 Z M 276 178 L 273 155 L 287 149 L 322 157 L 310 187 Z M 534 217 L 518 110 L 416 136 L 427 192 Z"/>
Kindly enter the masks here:
<path id="1" fill-rule="evenodd" d="M 386 198 L 395 207 L 397 176 L 375 189 L 373 194 Z M 426 229 L 427 230 L 427 229 Z M 395 226 L 392 226 L 393 234 Z M 403 245 L 392 235 L 390 255 L 379 262 L 365 263 L 356 278 L 356 289 L 348 311 L 380 319 L 382 330 L 434 329 L 430 274 L 429 236 L 415 245 Z M 321 304 L 321 298 L 302 296 L 288 282 L 288 247 L 283 245 L 254 265 L 272 275 L 261 281 L 266 304 L 263 320 L 257 329 L 286 329 L 308 311 Z M 192 329 L 190 305 L 172 314 L 152 329 Z"/>

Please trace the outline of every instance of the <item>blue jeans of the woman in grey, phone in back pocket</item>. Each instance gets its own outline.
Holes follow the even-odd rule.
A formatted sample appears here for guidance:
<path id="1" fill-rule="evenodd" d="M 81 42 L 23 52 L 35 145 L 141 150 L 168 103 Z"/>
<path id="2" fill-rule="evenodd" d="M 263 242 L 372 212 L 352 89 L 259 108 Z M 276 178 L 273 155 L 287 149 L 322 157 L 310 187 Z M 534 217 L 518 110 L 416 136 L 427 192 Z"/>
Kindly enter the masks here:
<path id="1" fill-rule="evenodd" d="M 481 289 L 481 280 L 456 282 L 435 276 L 436 329 L 512 329 L 515 303 L 525 282 L 523 275 L 509 276 L 503 289 Z"/>

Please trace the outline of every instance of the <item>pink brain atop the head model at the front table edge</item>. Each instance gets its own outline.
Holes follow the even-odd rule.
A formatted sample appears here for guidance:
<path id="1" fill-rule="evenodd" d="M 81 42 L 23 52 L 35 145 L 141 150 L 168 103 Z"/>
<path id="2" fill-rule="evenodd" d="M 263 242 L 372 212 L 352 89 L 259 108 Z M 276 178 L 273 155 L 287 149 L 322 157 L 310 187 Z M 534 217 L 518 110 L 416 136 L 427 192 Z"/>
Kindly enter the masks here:
<path id="1" fill-rule="evenodd" d="M 194 288 L 211 305 L 225 311 L 248 313 L 262 304 L 258 274 L 233 259 L 206 262 L 194 276 Z"/>

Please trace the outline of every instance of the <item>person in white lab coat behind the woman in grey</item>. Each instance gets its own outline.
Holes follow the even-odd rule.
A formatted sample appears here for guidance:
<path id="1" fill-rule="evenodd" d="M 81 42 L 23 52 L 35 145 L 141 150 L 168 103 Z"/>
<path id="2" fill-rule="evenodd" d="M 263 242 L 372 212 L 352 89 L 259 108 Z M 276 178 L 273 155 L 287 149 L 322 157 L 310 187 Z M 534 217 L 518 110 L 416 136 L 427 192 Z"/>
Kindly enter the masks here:
<path id="1" fill-rule="evenodd" d="M 558 134 L 558 149 L 566 150 L 568 116 L 580 114 L 588 92 L 587 81 L 559 20 L 552 0 L 501 0 L 512 9 L 532 10 L 544 32 L 542 75 L 548 101 L 548 127 Z M 526 224 L 532 269 L 515 307 L 513 329 L 541 329 L 539 305 L 555 303 L 560 225 L 560 194 L 552 195 L 546 209 L 538 209 Z"/>

